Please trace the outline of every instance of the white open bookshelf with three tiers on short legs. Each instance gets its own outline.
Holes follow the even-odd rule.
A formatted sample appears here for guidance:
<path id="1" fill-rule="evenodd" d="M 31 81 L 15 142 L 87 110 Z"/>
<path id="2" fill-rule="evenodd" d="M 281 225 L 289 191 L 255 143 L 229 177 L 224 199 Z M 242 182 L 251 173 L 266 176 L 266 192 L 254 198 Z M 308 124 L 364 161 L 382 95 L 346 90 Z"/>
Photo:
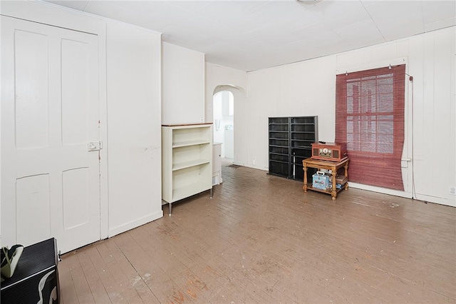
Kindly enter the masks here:
<path id="1" fill-rule="evenodd" d="M 212 123 L 162 126 L 162 200 L 203 191 L 212 197 Z"/>

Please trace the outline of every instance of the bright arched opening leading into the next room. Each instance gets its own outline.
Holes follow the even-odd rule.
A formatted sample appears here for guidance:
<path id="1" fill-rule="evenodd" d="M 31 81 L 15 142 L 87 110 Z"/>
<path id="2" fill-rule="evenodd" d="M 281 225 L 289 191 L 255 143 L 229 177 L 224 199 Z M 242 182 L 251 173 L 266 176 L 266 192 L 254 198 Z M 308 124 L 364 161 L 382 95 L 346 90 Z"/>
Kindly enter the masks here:
<path id="1" fill-rule="evenodd" d="M 218 91 L 212 98 L 214 143 L 221 143 L 222 163 L 234 161 L 234 96 Z"/>

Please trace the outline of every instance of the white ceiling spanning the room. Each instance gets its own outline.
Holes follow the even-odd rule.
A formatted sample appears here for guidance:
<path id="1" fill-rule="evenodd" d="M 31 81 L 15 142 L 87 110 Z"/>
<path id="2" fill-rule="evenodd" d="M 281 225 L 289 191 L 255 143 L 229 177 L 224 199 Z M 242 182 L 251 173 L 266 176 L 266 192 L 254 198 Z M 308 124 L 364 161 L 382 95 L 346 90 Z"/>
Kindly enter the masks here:
<path id="1" fill-rule="evenodd" d="M 48 0 L 162 33 L 206 61 L 254 71 L 456 25 L 456 1 Z"/>

